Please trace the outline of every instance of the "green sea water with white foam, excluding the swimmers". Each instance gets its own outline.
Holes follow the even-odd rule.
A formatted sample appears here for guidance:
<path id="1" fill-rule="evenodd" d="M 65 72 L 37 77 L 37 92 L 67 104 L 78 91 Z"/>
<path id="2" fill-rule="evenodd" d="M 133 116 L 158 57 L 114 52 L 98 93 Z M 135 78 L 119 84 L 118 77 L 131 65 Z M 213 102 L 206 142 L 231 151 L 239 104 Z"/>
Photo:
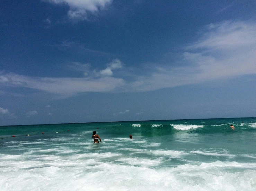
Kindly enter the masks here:
<path id="1" fill-rule="evenodd" d="M 256 118 L 2 126 L 0 138 L 1 191 L 256 190 Z"/>

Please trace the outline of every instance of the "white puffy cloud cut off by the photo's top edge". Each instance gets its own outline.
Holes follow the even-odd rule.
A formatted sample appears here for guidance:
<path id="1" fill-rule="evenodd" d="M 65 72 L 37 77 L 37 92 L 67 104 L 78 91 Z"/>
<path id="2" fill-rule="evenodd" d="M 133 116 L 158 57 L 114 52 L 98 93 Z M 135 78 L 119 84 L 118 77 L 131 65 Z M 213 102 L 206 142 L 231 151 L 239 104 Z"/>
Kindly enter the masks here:
<path id="1" fill-rule="evenodd" d="M 112 0 L 45 0 L 54 4 L 68 4 L 70 10 L 68 16 L 70 19 L 85 20 L 88 13 L 96 14 L 104 9 Z"/>

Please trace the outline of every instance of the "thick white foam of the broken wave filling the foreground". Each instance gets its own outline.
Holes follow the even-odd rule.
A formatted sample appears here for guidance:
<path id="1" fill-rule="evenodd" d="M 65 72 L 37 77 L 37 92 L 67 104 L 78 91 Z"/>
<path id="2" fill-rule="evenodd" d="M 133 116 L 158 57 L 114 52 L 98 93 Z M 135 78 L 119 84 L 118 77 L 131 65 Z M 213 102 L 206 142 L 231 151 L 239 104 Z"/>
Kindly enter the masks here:
<path id="1" fill-rule="evenodd" d="M 57 164 L 54 162 L 52 166 L 37 163 L 40 168 L 29 170 L 16 166 L 25 163 L 12 165 L 0 173 L 0 190 L 82 191 L 95 190 L 95 185 L 97 190 L 110 191 L 129 191 L 138 187 L 142 191 L 249 191 L 256 188 L 256 163 L 217 161 L 153 169 L 152 166 L 159 166 L 160 159 L 124 158 L 117 161 L 123 164 L 94 163 L 94 159 L 63 162 L 65 166 L 59 167 L 54 166 Z M 232 172 L 233 168 L 241 171 Z"/>

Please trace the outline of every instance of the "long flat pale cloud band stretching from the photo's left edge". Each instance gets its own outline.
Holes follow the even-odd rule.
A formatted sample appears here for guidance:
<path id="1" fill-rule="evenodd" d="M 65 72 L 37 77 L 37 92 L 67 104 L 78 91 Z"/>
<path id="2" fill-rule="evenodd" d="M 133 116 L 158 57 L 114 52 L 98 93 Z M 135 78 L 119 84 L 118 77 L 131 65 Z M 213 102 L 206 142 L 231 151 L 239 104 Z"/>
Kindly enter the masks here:
<path id="1" fill-rule="evenodd" d="M 123 86 L 124 80 L 113 77 L 93 78 L 34 78 L 14 73 L 5 74 L 5 86 L 25 87 L 72 96 L 81 92 L 109 92 Z"/>

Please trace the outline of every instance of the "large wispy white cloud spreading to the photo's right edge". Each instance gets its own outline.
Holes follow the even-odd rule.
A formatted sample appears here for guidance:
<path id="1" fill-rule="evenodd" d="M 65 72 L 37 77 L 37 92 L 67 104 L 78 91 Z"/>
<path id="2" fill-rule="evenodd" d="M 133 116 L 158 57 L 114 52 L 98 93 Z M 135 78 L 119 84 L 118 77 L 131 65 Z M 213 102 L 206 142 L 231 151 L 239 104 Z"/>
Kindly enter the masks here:
<path id="1" fill-rule="evenodd" d="M 198 41 L 185 47 L 186 67 L 155 69 L 150 76 L 140 76 L 131 82 L 131 89 L 151 91 L 256 74 L 256 23 L 210 24 L 201 35 Z"/>

